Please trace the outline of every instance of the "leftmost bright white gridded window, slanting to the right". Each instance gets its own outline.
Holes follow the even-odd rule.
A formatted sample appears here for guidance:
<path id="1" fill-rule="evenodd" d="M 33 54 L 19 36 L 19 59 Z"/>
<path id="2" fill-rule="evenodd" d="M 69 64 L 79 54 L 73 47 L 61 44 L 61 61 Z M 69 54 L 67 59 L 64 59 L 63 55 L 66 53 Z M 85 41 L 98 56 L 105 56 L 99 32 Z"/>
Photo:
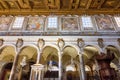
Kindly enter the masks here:
<path id="1" fill-rule="evenodd" d="M 21 29 L 23 26 L 25 17 L 15 17 L 12 29 Z"/>

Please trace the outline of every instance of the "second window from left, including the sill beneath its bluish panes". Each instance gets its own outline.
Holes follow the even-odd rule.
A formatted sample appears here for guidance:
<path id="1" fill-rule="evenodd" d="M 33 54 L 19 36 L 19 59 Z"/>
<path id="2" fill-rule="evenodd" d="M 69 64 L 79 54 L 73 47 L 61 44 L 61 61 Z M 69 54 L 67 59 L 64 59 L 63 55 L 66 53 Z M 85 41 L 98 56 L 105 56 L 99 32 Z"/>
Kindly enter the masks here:
<path id="1" fill-rule="evenodd" d="M 47 31 L 56 31 L 58 30 L 58 17 L 57 16 L 48 16 L 47 18 Z"/>

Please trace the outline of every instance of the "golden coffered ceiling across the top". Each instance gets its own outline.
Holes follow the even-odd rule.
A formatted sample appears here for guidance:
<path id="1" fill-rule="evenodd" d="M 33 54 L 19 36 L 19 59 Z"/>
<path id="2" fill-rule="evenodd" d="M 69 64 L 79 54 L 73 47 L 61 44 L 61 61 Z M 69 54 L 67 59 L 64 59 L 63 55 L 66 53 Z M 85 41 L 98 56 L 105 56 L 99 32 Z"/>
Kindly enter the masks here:
<path id="1" fill-rule="evenodd" d="M 0 0 L 0 15 L 119 13 L 120 0 Z"/>

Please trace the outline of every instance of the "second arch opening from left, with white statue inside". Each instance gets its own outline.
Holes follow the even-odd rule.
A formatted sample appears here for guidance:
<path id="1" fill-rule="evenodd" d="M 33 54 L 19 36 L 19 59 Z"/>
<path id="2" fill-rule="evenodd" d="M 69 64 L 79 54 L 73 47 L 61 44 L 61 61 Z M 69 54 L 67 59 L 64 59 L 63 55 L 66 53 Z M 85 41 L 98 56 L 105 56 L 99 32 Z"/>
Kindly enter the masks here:
<path id="1" fill-rule="evenodd" d="M 14 79 L 29 80 L 31 65 L 37 61 L 37 49 L 32 46 L 24 46 L 17 55 Z"/>

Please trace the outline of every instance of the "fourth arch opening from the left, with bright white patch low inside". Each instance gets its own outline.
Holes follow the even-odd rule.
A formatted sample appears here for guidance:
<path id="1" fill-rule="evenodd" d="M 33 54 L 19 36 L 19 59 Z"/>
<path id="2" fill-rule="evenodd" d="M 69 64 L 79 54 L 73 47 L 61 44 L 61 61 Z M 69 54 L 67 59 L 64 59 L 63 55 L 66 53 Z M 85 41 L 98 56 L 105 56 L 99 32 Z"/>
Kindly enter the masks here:
<path id="1" fill-rule="evenodd" d="M 72 46 L 65 46 L 62 54 L 62 78 L 63 80 L 79 80 L 80 66 L 78 52 Z"/>

